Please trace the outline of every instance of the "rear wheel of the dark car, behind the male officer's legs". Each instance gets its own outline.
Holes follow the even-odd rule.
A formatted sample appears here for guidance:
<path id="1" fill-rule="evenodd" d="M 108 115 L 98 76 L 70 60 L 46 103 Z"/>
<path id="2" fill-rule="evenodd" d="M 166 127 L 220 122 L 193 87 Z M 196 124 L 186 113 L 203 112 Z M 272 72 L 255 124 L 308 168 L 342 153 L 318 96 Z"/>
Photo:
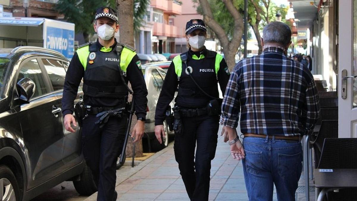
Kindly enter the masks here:
<path id="1" fill-rule="evenodd" d="M 80 195 L 90 196 L 97 191 L 92 172 L 87 165 L 84 167 L 83 172 L 80 175 L 80 180 L 73 181 L 73 185 Z"/>

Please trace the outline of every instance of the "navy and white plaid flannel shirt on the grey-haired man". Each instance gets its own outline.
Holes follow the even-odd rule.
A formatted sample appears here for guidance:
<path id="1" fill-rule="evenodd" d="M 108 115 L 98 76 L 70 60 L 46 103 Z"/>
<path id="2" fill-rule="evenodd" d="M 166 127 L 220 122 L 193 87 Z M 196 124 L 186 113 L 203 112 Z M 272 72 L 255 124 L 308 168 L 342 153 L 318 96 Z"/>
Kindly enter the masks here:
<path id="1" fill-rule="evenodd" d="M 277 46 L 234 67 L 222 103 L 220 123 L 241 132 L 298 136 L 309 134 L 320 115 L 310 70 Z"/>

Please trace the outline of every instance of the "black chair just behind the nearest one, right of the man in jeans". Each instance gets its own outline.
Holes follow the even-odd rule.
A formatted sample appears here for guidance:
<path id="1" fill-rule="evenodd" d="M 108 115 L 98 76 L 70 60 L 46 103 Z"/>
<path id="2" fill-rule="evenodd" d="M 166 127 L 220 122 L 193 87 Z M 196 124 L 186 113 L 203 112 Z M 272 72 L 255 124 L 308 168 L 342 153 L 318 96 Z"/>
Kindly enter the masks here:
<path id="1" fill-rule="evenodd" d="M 319 163 L 325 138 L 338 138 L 338 120 L 322 120 L 320 131 L 316 136 L 312 135 L 310 138 L 310 144 L 312 144 L 315 153 L 315 168 Z"/>

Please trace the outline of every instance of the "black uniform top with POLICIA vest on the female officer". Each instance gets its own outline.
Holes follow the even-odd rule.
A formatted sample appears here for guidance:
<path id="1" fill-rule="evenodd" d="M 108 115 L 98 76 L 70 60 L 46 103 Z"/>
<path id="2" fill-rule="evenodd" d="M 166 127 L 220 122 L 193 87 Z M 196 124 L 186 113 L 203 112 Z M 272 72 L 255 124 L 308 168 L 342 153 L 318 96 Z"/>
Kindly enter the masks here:
<path id="1" fill-rule="evenodd" d="M 201 52 L 193 52 L 189 50 L 187 66 L 192 67 L 192 75 L 194 75 L 193 77 L 195 77 L 195 80 L 200 85 L 200 87 L 203 88 L 206 93 L 218 98 L 217 80 L 220 83 L 220 88 L 222 94 L 224 95 L 230 73 L 228 71 L 225 60 L 222 59 L 219 63 L 220 68 L 216 75 L 216 73 L 212 71 L 212 68 L 215 68 L 215 58 L 207 58 L 207 52 L 208 50 L 206 49 L 203 49 Z M 201 54 L 203 54 L 205 58 L 197 60 L 197 58 L 201 58 Z M 191 59 L 193 55 L 196 55 L 196 59 Z M 192 80 L 188 77 L 188 75 L 185 74 L 185 69 L 185 64 L 182 64 L 182 72 L 180 80 L 178 80 L 178 76 L 175 71 L 175 64 L 174 62 L 171 62 L 170 67 L 167 70 L 159 100 L 156 105 L 155 125 L 161 125 L 164 122 L 166 109 L 169 106 L 171 100 L 174 98 L 177 86 L 179 84 L 180 86 L 178 87 L 178 95 L 175 99 L 177 106 L 185 108 L 203 108 L 206 107 L 208 101 L 212 99 L 202 94 L 200 90 L 195 87 Z M 185 88 L 187 85 L 190 85 L 190 89 Z M 195 95 L 192 94 L 191 97 L 190 94 L 181 95 L 186 93 L 186 91 L 190 93 L 192 90 L 194 91 L 193 93 Z"/>

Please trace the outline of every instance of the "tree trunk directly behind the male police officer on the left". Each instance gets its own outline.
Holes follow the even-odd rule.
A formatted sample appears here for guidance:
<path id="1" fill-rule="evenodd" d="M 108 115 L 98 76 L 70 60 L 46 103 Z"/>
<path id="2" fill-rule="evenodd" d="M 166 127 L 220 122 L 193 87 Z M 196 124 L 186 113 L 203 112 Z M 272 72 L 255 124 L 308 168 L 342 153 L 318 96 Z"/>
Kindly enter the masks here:
<path id="1" fill-rule="evenodd" d="M 128 44 L 134 47 L 134 1 L 133 0 L 118 0 L 118 17 L 119 17 L 119 41 L 120 43 Z M 129 83 L 129 87 L 131 85 Z M 132 96 L 129 95 L 129 101 L 131 101 Z M 130 134 L 133 127 L 135 126 L 137 120 L 136 116 L 133 115 Z M 127 146 L 126 146 L 126 157 L 131 157 L 134 144 L 132 139 L 129 137 Z M 141 157 L 142 155 L 142 141 L 136 143 L 135 145 L 135 156 Z"/>

